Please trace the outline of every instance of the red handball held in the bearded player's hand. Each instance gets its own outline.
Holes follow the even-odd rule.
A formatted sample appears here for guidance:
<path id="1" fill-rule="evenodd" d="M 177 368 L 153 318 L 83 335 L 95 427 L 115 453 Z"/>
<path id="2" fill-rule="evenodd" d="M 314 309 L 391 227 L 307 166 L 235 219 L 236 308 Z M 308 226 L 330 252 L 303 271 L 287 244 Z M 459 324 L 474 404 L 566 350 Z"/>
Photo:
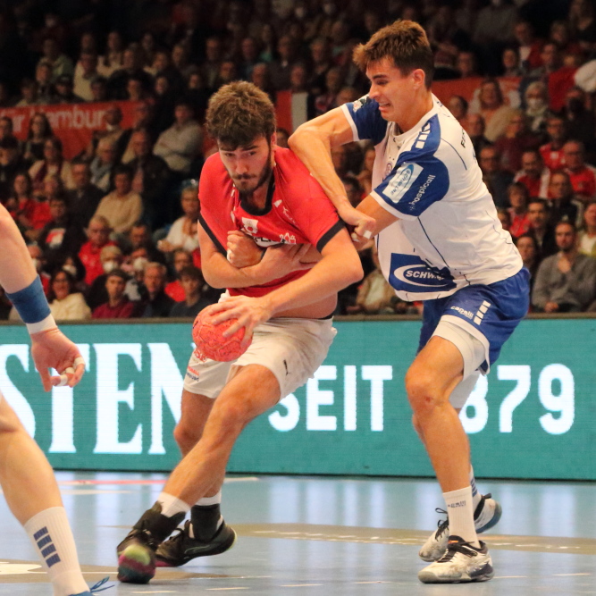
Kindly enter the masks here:
<path id="1" fill-rule="evenodd" d="M 247 351 L 248 346 L 241 347 L 246 330 L 241 327 L 230 337 L 224 338 L 222 333 L 236 323 L 237 319 L 228 319 L 219 324 L 212 323 L 214 306 L 206 306 L 192 324 L 192 339 L 197 345 L 195 356 L 203 361 L 210 358 L 218 362 L 229 362 Z"/>

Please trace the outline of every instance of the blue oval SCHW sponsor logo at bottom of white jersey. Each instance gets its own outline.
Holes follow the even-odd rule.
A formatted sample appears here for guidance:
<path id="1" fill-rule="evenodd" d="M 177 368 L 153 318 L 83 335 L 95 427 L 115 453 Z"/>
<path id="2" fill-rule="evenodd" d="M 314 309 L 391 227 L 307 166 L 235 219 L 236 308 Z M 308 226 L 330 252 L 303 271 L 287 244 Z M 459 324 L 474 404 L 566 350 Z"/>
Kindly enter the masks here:
<path id="1" fill-rule="evenodd" d="M 453 290 L 456 287 L 447 267 L 439 269 L 419 256 L 397 253 L 391 255 L 389 282 L 395 290 L 408 292 Z"/>

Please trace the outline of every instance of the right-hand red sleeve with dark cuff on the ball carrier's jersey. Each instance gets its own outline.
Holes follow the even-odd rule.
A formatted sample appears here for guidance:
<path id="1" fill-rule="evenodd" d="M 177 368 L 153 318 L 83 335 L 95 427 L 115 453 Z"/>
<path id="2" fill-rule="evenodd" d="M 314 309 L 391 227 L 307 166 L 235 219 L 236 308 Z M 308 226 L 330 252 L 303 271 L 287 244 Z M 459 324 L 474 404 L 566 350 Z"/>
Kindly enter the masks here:
<path id="1" fill-rule="evenodd" d="M 284 178 L 284 200 L 298 228 L 319 252 L 345 225 L 321 185 L 288 149 L 275 153 Z"/>

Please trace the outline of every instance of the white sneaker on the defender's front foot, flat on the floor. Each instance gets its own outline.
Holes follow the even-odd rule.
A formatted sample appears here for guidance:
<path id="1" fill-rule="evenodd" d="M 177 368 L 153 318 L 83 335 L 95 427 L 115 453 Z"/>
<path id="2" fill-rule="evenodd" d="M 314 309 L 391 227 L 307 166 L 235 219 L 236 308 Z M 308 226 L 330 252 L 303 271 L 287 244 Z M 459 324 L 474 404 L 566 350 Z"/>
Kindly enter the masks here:
<path id="1" fill-rule="evenodd" d="M 445 554 L 418 572 L 418 579 L 422 583 L 486 582 L 493 575 L 491 555 L 484 542 L 477 549 L 459 536 L 449 536 Z"/>

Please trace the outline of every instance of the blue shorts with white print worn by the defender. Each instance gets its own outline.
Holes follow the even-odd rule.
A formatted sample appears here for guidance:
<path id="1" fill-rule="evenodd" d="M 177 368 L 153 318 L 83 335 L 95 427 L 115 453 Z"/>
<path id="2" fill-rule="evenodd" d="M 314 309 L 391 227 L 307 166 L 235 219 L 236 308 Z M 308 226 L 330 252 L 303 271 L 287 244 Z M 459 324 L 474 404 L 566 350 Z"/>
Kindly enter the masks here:
<path id="1" fill-rule="evenodd" d="M 420 351 L 439 321 L 455 323 L 462 327 L 487 348 L 488 362 L 480 366 L 486 373 L 499 357 L 500 348 L 525 317 L 530 306 L 530 273 L 523 267 L 507 280 L 490 285 L 472 285 L 457 290 L 446 298 L 424 300 Z"/>

